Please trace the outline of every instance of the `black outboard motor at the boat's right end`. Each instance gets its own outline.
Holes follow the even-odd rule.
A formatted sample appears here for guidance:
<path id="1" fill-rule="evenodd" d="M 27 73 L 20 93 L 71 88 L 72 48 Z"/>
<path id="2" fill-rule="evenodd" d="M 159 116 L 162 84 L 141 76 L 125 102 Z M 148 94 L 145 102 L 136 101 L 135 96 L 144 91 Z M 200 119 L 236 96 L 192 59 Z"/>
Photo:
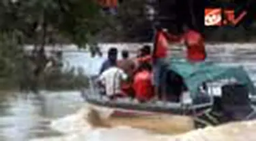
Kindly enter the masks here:
<path id="1" fill-rule="evenodd" d="M 227 84 L 223 85 L 221 90 L 223 113 L 229 121 L 241 121 L 253 118 L 253 116 L 249 116 L 253 113 L 253 108 L 250 104 L 248 87 L 246 85 L 237 83 Z"/>

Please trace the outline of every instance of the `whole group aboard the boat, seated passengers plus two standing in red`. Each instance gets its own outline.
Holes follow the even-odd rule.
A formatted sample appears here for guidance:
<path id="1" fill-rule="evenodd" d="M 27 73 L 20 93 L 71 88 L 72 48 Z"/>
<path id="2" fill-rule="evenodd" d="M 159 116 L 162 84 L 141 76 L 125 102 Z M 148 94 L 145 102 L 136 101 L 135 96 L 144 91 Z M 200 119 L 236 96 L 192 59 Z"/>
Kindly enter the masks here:
<path id="1" fill-rule="evenodd" d="M 204 60 L 203 38 L 196 31 L 188 31 L 184 36 L 177 37 L 162 30 L 156 33 L 155 39 L 153 52 L 150 45 L 144 45 L 136 58 L 130 58 L 129 52 L 123 50 L 122 60 L 117 60 L 117 48 L 109 49 L 98 77 L 103 94 L 111 99 L 130 96 L 140 102 L 167 100 L 172 95 L 174 101 L 179 101 L 186 85 L 180 75 L 168 69 L 167 47 L 170 41 L 184 41 L 190 61 Z"/>

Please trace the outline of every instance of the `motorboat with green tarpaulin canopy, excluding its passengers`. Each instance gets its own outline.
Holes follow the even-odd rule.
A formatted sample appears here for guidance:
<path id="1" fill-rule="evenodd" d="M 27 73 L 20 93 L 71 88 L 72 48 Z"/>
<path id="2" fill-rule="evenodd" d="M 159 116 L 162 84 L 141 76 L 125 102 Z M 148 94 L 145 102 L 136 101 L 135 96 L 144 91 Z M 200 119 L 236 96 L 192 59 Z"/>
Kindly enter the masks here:
<path id="1" fill-rule="evenodd" d="M 87 104 L 109 108 L 115 116 L 158 113 L 197 116 L 212 107 L 214 96 L 221 96 L 223 85 L 240 83 L 246 85 L 250 96 L 255 94 L 253 82 L 242 66 L 221 66 L 208 61 L 193 63 L 183 58 L 170 58 L 167 71 L 180 75 L 187 87 L 180 102 L 155 100 L 141 103 L 132 98 L 110 100 L 101 94 L 96 83 L 97 76 L 89 77 L 89 89 L 83 89 L 81 95 Z M 206 89 L 202 88 L 203 85 L 206 85 Z"/>

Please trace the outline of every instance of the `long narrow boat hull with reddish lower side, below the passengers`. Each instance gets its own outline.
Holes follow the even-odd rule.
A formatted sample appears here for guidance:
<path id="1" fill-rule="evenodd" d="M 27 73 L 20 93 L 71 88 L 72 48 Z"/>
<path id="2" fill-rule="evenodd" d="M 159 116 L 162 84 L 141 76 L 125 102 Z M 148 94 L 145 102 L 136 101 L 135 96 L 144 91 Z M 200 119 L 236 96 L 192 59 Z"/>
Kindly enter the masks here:
<path id="1" fill-rule="evenodd" d="M 188 105 L 171 102 L 143 104 L 134 102 L 115 102 L 111 100 L 102 100 L 101 98 L 89 98 L 83 92 L 82 96 L 87 104 L 94 107 L 108 108 L 111 110 L 111 114 L 117 117 L 157 115 L 159 113 L 171 115 L 197 115 L 211 106 L 211 104 L 205 104 L 204 106 L 193 108 Z"/>

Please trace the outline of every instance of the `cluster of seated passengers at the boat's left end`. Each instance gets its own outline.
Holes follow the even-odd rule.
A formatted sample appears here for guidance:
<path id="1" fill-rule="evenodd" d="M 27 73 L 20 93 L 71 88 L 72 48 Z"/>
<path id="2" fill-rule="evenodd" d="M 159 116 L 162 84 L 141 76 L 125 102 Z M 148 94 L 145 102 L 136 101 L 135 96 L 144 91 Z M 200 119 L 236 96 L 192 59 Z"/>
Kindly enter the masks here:
<path id="1" fill-rule="evenodd" d="M 102 64 L 98 80 L 109 98 L 132 97 L 144 102 L 154 97 L 152 84 L 151 47 L 144 45 L 137 58 L 130 58 L 122 51 L 122 60 L 117 60 L 117 48 L 112 47 L 108 59 Z"/>

